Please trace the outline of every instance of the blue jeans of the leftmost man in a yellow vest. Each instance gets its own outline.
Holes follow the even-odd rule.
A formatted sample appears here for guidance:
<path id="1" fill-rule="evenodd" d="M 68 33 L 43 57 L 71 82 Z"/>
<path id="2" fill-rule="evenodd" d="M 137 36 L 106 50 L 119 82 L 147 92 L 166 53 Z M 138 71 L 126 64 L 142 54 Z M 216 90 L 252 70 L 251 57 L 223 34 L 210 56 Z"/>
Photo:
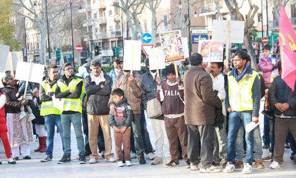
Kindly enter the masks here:
<path id="1" fill-rule="evenodd" d="M 54 126 L 56 125 L 57 129 L 60 131 L 60 135 L 62 138 L 62 146 L 63 151 L 65 150 L 64 147 L 64 138 L 63 138 L 63 128 L 61 123 L 61 115 L 47 115 L 45 116 L 44 125 L 47 130 L 47 138 L 46 138 L 46 155 L 49 155 L 52 157 L 52 151 L 53 151 L 53 137 L 54 137 Z"/>

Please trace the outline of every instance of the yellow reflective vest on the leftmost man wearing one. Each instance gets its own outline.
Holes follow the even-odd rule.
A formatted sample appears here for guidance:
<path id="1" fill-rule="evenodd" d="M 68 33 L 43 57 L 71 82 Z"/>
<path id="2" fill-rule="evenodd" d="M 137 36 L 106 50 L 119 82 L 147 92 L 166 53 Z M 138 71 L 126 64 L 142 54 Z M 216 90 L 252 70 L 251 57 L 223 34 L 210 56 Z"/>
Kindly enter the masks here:
<path id="1" fill-rule="evenodd" d="M 57 84 L 53 84 L 52 87 L 45 81 L 41 82 L 41 86 L 44 88 L 45 93 L 47 92 L 55 92 Z M 60 115 L 61 111 L 57 108 L 53 107 L 53 102 L 51 101 L 42 101 L 41 108 L 40 108 L 40 116 L 47 116 L 51 114 Z"/>

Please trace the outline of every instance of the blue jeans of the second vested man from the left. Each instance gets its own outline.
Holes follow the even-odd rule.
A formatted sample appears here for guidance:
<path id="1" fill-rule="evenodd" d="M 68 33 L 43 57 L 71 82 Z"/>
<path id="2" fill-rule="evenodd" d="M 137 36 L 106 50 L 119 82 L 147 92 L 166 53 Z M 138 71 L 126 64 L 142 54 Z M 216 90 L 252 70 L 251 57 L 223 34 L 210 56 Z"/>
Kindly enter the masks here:
<path id="1" fill-rule="evenodd" d="M 74 127 L 77 149 L 79 151 L 78 155 L 84 154 L 84 140 L 82 133 L 82 124 L 81 124 L 81 114 L 62 114 L 62 127 L 63 127 L 63 137 L 65 144 L 64 155 L 71 156 L 71 122 Z"/>

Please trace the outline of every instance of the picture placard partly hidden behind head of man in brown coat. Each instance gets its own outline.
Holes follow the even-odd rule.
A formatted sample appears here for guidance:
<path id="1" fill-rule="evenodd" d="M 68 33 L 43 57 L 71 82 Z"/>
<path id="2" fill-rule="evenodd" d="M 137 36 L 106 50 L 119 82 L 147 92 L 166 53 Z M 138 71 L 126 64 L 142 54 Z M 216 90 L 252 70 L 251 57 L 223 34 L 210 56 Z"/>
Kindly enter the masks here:
<path id="1" fill-rule="evenodd" d="M 213 42 L 212 40 L 200 40 L 198 44 L 198 53 L 201 54 L 203 63 L 209 61 L 223 62 L 223 49 L 223 42 Z M 211 53 L 209 53 L 210 50 Z"/>

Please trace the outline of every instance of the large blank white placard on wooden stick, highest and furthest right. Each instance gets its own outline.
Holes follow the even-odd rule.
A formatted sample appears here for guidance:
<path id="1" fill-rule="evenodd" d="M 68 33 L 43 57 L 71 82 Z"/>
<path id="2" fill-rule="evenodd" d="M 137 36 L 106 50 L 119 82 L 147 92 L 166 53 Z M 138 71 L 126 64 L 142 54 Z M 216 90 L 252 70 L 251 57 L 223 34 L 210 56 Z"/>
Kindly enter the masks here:
<path id="1" fill-rule="evenodd" d="M 229 21 L 229 43 L 243 43 L 245 21 Z M 213 42 L 227 42 L 227 20 L 213 20 Z"/>

